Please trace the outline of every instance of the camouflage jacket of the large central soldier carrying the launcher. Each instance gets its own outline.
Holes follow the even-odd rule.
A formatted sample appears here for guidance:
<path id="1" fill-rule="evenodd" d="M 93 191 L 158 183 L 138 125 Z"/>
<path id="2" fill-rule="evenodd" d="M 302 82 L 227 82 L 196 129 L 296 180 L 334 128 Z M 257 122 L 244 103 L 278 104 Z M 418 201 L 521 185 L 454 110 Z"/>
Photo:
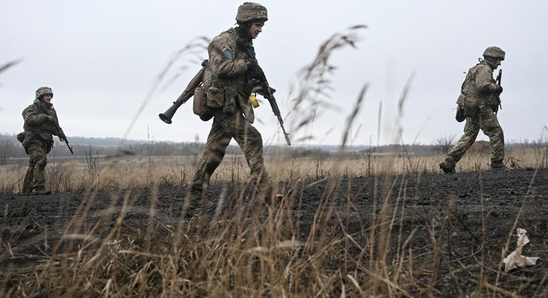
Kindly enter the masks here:
<path id="1" fill-rule="evenodd" d="M 235 28 L 213 38 L 208 46 L 209 61 L 203 86 L 210 108 L 222 108 L 224 114 L 243 113 L 253 123 L 253 107 L 248 98 L 255 84 L 248 77 L 246 63 L 252 57 L 243 48 L 242 41 Z M 245 42 L 254 53 L 252 43 Z"/>

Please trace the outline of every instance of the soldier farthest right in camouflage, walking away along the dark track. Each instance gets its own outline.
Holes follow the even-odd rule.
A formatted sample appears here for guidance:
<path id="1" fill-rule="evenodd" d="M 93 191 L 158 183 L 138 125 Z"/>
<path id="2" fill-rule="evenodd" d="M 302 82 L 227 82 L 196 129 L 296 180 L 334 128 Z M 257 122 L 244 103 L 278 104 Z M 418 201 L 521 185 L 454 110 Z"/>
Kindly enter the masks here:
<path id="1" fill-rule="evenodd" d="M 504 60 L 504 51 L 489 46 L 483 57 L 480 63 L 470 68 L 462 83 L 457 105 L 466 116 L 465 134 L 447 153 L 445 161 L 440 163 L 445 173 L 455 173 L 455 165 L 475 142 L 480 129 L 489 137 L 491 170 L 504 170 L 504 133 L 497 120 L 502 87 L 493 79 L 493 71 Z"/>

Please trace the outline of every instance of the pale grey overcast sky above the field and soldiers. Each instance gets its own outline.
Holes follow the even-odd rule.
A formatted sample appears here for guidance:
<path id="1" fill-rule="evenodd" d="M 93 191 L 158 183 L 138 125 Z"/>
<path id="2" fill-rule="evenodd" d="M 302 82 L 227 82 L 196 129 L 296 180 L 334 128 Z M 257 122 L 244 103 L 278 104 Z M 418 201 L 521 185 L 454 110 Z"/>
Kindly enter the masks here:
<path id="1" fill-rule="evenodd" d="M 21 111 L 39 86 L 50 86 L 66 135 L 120 137 L 138 111 L 158 73 L 173 53 L 196 36 L 213 38 L 233 26 L 242 1 L 0 1 L 0 64 L 24 61 L 0 74 L 0 132 L 19 133 Z M 286 114 L 289 86 L 312 61 L 322 41 L 354 24 L 366 24 L 357 50 L 333 54 L 338 71 L 328 111 L 315 120 L 306 143 L 338 144 L 345 118 L 364 83 L 362 111 L 352 144 L 377 143 L 377 112 L 382 101 L 380 143 L 392 143 L 397 100 L 411 73 L 405 103 L 403 140 L 432 143 L 460 135 L 455 101 L 465 72 L 487 46 L 506 51 L 502 62 L 502 111 L 507 140 L 535 140 L 546 117 L 548 1 L 285 1 L 267 0 L 269 21 L 254 41 L 270 85 Z M 201 58 L 207 58 L 205 51 Z M 188 69 L 156 93 L 129 138 L 205 141 L 211 122 L 182 106 L 167 125 L 158 120 L 198 71 Z M 162 85 L 163 86 L 163 85 Z M 255 116 L 265 143 L 283 143 L 268 103 Z M 358 127 L 359 130 L 358 130 Z M 421 130 L 422 128 L 422 130 Z M 291 128 L 288 128 L 291 133 Z M 293 138 L 298 136 L 293 135 Z M 480 139 L 487 139 L 480 133 Z"/>

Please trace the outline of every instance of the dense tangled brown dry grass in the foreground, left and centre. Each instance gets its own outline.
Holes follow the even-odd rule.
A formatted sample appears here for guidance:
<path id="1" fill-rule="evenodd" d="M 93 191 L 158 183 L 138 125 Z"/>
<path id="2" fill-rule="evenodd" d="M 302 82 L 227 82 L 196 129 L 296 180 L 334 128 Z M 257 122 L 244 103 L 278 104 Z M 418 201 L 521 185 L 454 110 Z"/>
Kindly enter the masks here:
<path id="1" fill-rule="evenodd" d="M 150 225 L 156 228 L 146 233 L 144 228 L 136 230 L 125 221 L 131 198 L 116 198 L 123 199 L 123 207 L 116 212 L 116 224 L 108 235 L 98 238 L 97 225 L 83 229 L 86 211 L 81 210 L 81 216 L 74 217 L 76 220 L 51 248 L 51 256 L 36 256 L 39 266 L 34 276 L 18 284 L 21 274 L 31 272 L 4 274 L 0 293 L 47 293 L 54 297 L 331 297 L 342 292 L 342 297 L 373 293 L 409 297 L 405 289 L 415 281 L 406 278 L 402 269 L 407 257 L 402 254 L 400 262 L 392 264 L 382 256 L 382 247 L 377 250 L 373 243 L 394 225 L 385 220 L 392 212 L 383 208 L 379 220 L 362 227 L 362 235 L 348 235 L 340 219 L 338 227 L 328 228 L 334 215 L 330 195 L 331 191 L 319 198 L 322 203 L 315 214 L 317 220 L 305 240 L 299 237 L 299 222 L 291 216 L 291 205 L 299 201 L 298 197 L 285 197 L 282 204 L 267 207 L 265 212 L 257 208 L 255 200 L 245 204 L 240 197 L 233 212 L 217 210 L 213 220 L 193 217 L 176 225 L 156 219 L 151 204 Z M 82 205 L 89 200 L 93 195 Z M 387 205 L 387 200 L 380 203 Z M 396 206 L 394 215 L 397 210 Z M 367 235 L 372 242 L 357 243 L 357 237 Z M 360 257 L 350 254 L 354 245 L 362 251 Z M 405 245 L 407 242 L 402 250 Z M 380 262 L 373 262 L 377 258 Z M 339 269 L 330 272 L 325 267 Z M 391 277 L 391 272 L 397 275 Z M 6 288 L 6 280 L 16 284 Z"/>

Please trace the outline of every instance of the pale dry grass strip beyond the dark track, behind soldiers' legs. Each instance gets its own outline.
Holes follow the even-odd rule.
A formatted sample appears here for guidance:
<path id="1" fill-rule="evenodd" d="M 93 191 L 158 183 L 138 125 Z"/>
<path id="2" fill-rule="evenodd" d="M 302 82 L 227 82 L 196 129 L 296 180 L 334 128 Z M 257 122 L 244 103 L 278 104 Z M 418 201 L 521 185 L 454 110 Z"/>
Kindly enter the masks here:
<path id="1" fill-rule="evenodd" d="M 485 150 L 487 149 L 487 150 Z M 489 148 L 472 148 L 457 164 L 462 172 L 488 170 Z M 318 152 L 309 158 L 274 156 L 266 158 L 266 168 L 275 182 L 308 178 L 365 177 L 381 175 L 440 173 L 444 155 L 380 155 L 363 153 L 352 158 Z M 191 183 L 196 158 L 118 158 L 116 160 L 66 160 L 47 166 L 47 186 L 56 192 L 134 189 L 144 187 L 185 186 Z M 535 149 L 507 151 L 509 168 L 543 168 L 543 159 Z M 21 189 L 26 165 L 0 166 L 0 192 L 17 193 Z M 249 169 L 242 155 L 225 157 L 211 183 L 247 183 Z"/>

